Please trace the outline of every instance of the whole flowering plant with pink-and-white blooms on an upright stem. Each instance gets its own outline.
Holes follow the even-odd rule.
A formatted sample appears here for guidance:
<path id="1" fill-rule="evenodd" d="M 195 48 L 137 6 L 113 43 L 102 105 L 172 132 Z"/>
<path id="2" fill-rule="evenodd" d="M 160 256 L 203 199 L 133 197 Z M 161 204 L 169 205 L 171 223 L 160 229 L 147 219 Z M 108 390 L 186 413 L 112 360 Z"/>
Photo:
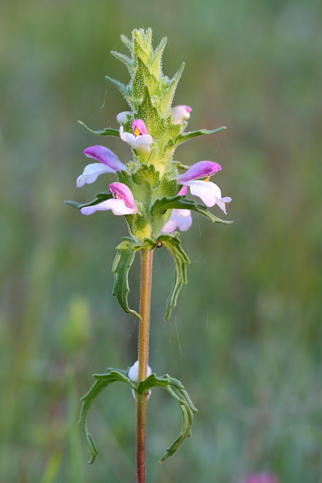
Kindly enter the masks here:
<path id="1" fill-rule="evenodd" d="M 183 415 L 183 427 L 177 440 L 165 452 L 160 462 L 177 450 L 185 437 L 190 436 L 193 415 L 197 409 L 188 393 L 178 380 L 163 375 L 157 377 L 148 366 L 148 342 L 150 323 L 150 294 L 152 282 L 152 257 L 154 248 L 165 246 L 176 266 L 174 284 L 167 301 L 165 319 L 170 318 L 172 308 L 177 304 L 179 290 L 187 282 L 186 264 L 190 263 L 185 254 L 177 228 L 188 230 L 192 224 L 192 211 L 208 217 L 214 223 L 230 224 L 211 213 L 208 208 L 214 205 L 226 214 L 225 204 L 230 197 L 222 197 L 217 184 L 210 177 L 221 166 L 213 161 L 199 161 L 186 166 L 173 160 L 174 150 L 185 141 L 201 135 L 212 135 L 225 130 L 186 131 L 192 108 L 175 106 L 172 99 L 177 83 L 183 72 L 184 64 L 172 79 L 161 70 L 161 57 L 166 39 L 152 48 L 152 30 L 134 30 L 132 40 L 121 36 L 130 50 L 130 57 L 112 52 L 128 68 L 130 82 L 127 86 L 106 77 L 116 86 L 130 106 L 130 110 L 117 115 L 119 129 L 105 128 L 94 131 L 79 124 L 89 132 L 99 136 L 116 136 L 129 144 L 132 161 L 123 164 L 117 155 L 105 146 L 91 146 L 84 151 L 86 157 L 96 162 L 85 166 L 77 178 L 77 186 L 92 184 L 99 175 L 114 173 L 118 181 L 110 184 L 109 190 L 98 193 L 84 204 L 66 201 L 81 210 L 83 215 L 92 215 L 97 210 L 112 210 L 114 215 L 124 215 L 130 232 L 117 246 L 112 272 L 114 273 L 113 295 L 117 297 L 125 313 L 139 319 L 139 356 L 138 361 L 127 371 L 109 369 L 108 373 L 94 375 L 96 382 L 83 397 L 80 424 L 83 428 L 88 449 L 92 454 L 91 462 L 97 456 L 88 428 L 86 417 L 90 404 L 108 384 L 115 381 L 125 382 L 132 388 L 137 406 L 137 482 L 145 482 L 145 424 L 146 406 L 153 386 L 165 388 L 178 402 Z M 97 162 L 98 161 L 98 162 Z M 190 194 L 203 201 L 199 203 L 188 199 Z M 128 304 L 128 273 L 136 253 L 141 252 L 141 300 L 139 313 Z"/>

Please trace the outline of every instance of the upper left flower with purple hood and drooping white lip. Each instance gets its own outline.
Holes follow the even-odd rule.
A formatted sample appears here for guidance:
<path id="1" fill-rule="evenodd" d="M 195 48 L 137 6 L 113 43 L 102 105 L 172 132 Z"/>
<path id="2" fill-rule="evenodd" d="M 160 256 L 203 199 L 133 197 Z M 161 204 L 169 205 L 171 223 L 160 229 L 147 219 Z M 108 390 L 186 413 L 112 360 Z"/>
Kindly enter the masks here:
<path id="1" fill-rule="evenodd" d="M 92 159 L 97 159 L 99 163 L 92 163 L 85 166 L 83 173 L 77 178 L 76 186 L 81 188 L 84 184 L 91 184 L 97 180 L 99 175 L 104 172 L 117 172 L 126 169 L 125 164 L 121 163 L 117 155 L 105 146 L 91 146 L 85 149 L 84 155 Z"/>

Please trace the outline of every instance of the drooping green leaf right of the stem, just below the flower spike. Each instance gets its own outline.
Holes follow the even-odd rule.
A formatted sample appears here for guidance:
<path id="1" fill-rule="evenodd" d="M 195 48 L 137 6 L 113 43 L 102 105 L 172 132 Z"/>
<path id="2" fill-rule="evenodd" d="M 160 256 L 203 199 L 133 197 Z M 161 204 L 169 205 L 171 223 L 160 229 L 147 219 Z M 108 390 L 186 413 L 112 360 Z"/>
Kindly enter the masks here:
<path id="1" fill-rule="evenodd" d="M 187 271 L 185 264 L 190 264 L 190 259 L 183 251 L 181 247 L 181 242 L 179 237 L 177 236 L 178 233 L 174 232 L 171 235 L 168 233 L 163 233 L 158 237 L 158 242 L 162 242 L 166 248 L 170 251 L 174 258 L 174 262 L 176 264 L 176 273 L 174 277 L 174 284 L 172 287 L 172 291 L 167 300 L 167 308 L 165 311 L 165 320 L 168 321 L 170 319 L 170 315 L 172 312 L 172 308 L 177 305 L 177 298 L 179 295 L 179 291 L 183 284 L 187 283 Z"/>

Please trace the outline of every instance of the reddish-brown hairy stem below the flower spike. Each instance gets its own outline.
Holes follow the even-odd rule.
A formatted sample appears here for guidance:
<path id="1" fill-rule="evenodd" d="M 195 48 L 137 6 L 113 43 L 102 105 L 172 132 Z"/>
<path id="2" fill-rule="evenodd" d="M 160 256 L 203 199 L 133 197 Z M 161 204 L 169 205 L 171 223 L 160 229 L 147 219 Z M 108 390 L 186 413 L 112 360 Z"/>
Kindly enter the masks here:
<path id="1" fill-rule="evenodd" d="M 141 252 L 141 299 L 139 323 L 139 379 L 145 380 L 149 362 L 150 306 L 153 250 Z M 148 394 L 137 394 L 137 483 L 145 483 L 146 409 Z"/>

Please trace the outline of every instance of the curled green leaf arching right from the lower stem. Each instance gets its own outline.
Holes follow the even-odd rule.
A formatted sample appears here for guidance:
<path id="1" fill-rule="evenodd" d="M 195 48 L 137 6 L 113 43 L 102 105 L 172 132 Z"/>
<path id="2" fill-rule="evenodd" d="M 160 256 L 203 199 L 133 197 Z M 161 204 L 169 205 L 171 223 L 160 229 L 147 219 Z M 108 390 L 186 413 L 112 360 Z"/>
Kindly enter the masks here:
<path id="1" fill-rule="evenodd" d="M 182 413 L 183 424 L 181 428 L 181 432 L 176 440 L 171 444 L 169 448 L 165 450 L 165 454 L 161 457 L 159 464 L 163 463 L 169 456 L 172 456 L 173 453 L 177 451 L 180 444 L 185 440 L 186 437 L 191 436 L 191 426 L 194 421 L 194 413 L 197 413 L 197 408 L 192 403 L 187 391 L 183 384 L 174 379 L 174 377 L 170 377 L 170 375 L 165 374 L 161 377 L 157 377 L 155 374 L 151 374 L 149 377 L 145 379 L 145 381 L 141 381 L 137 388 L 137 392 L 139 394 L 148 393 L 150 388 L 154 386 L 160 386 L 166 391 L 168 391 L 172 397 L 174 397 L 177 402 L 179 402 L 179 406 Z"/>

